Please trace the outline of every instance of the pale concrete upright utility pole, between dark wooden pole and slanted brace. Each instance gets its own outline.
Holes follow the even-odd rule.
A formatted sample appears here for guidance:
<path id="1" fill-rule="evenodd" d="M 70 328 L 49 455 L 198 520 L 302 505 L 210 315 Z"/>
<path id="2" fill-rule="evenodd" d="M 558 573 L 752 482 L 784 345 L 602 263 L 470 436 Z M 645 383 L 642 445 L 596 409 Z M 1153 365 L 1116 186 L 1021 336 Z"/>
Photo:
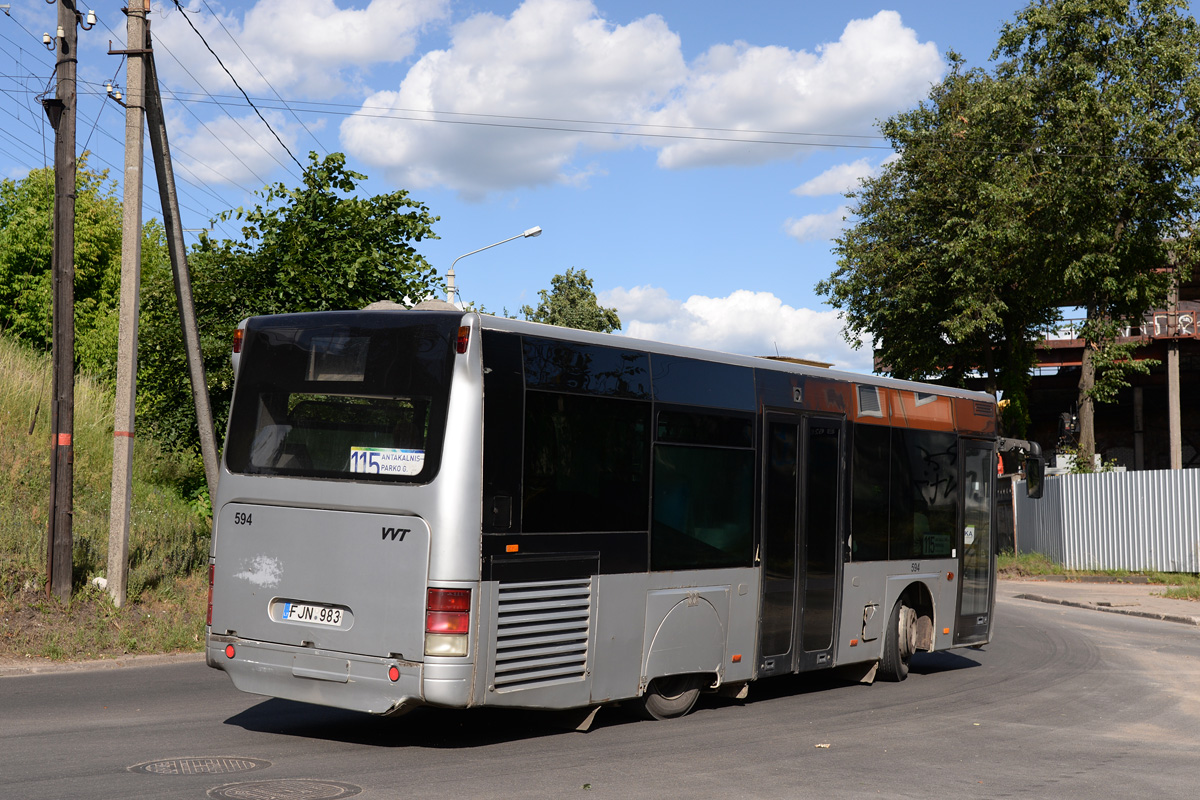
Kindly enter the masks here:
<path id="1" fill-rule="evenodd" d="M 121 222 L 121 309 L 116 333 L 116 410 L 113 415 L 113 494 L 108 513 L 108 594 L 125 604 L 133 504 L 133 407 L 138 374 L 138 291 L 142 284 L 143 85 L 150 0 L 132 0 L 125 72 L 125 197 Z"/>

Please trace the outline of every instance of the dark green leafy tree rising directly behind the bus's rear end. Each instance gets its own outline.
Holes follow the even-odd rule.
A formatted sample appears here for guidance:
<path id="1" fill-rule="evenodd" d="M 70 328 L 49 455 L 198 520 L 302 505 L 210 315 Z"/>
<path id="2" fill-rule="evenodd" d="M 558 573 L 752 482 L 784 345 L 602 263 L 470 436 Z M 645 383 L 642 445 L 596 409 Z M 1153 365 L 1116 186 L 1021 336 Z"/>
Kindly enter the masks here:
<path id="1" fill-rule="evenodd" d="M 415 303 L 438 289 L 413 242 L 436 239 L 437 217 L 408 192 L 362 198 L 366 175 L 346 156 L 310 154 L 302 186 L 265 187 L 262 203 L 222 219 L 241 239 L 202 236 L 188 254 L 197 326 L 212 402 L 224 429 L 233 391 L 233 333 L 246 317 L 361 308 L 376 300 Z M 197 447 L 196 415 L 169 264 L 143 277 L 138 414 L 175 446 Z"/>

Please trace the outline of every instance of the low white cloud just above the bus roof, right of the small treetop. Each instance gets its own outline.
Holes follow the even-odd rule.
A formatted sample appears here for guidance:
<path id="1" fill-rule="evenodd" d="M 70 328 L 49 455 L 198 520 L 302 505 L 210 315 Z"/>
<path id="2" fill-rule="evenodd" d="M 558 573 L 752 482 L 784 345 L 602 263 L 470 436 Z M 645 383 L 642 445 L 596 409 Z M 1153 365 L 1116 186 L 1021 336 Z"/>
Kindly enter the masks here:
<path id="1" fill-rule="evenodd" d="M 842 339 L 838 312 L 793 308 L 769 291 L 738 289 L 727 297 L 679 301 L 666 289 L 644 285 L 601 291 L 599 300 L 616 306 L 626 336 L 742 355 L 778 351 L 839 369 L 871 371 L 870 348 L 854 350 Z"/>

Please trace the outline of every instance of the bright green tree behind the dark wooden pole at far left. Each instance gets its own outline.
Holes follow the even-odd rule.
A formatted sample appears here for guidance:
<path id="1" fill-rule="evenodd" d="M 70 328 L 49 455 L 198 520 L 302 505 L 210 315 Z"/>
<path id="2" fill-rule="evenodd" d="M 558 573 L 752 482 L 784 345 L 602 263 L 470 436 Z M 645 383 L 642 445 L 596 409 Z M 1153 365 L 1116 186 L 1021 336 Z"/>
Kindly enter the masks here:
<path id="1" fill-rule="evenodd" d="M 0 330 L 49 350 L 53 342 L 54 170 L 0 181 Z M 121 201 L 108 170 L 76 170 L 76 362 L 103 372 L 112 362 L 108 323 L 121 276 Z"/>

